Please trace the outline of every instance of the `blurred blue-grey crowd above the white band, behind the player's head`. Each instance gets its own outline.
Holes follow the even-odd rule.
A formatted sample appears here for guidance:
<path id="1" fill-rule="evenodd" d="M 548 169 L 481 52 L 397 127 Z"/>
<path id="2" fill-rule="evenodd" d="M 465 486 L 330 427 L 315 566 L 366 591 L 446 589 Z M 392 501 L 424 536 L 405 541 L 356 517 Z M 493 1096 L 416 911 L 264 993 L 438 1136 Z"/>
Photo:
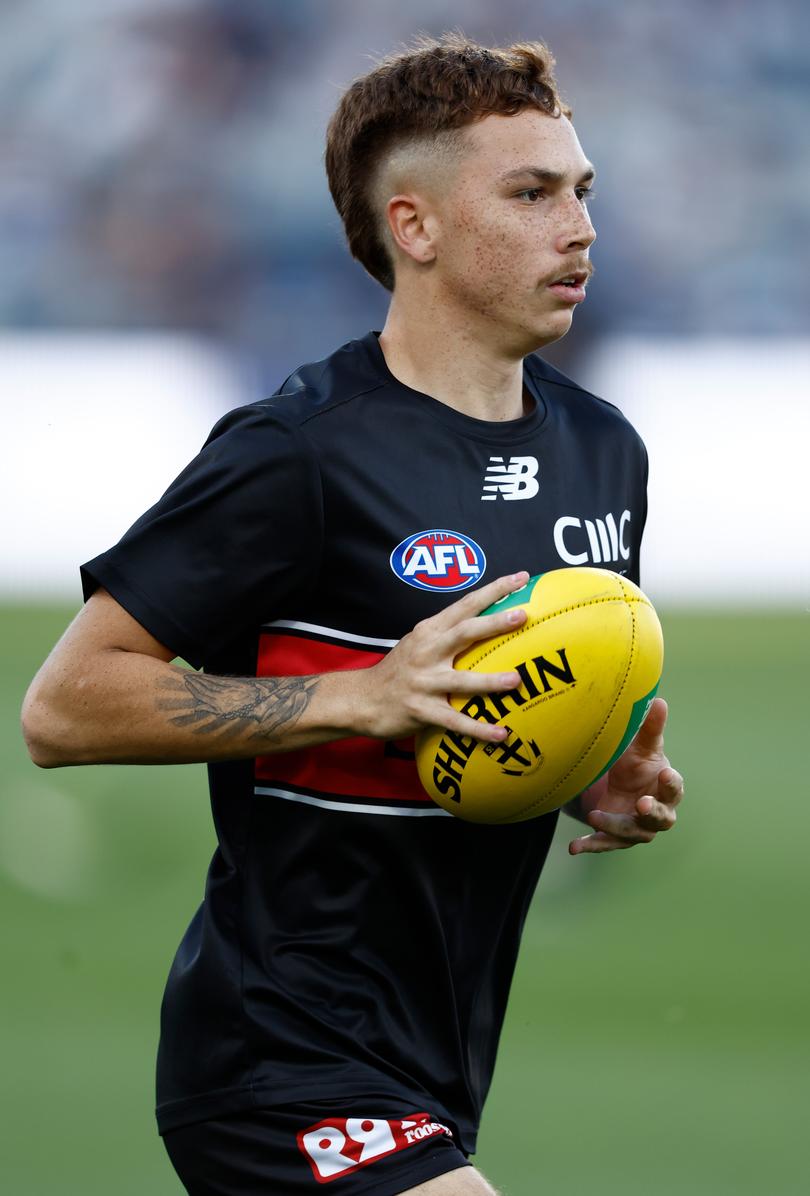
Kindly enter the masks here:
<path id="1" fill-rule="evenodd" d="M 329 199 L 325 123 L 373 57 L 462 28 L 552 47 L 597 165 L 597 279 L 573 350 L 616 330 L 806 331 L 803 0 L 0 7 L 5 328 L 187 329 L 267 388 L 379 327 L 385 294 Z"/>

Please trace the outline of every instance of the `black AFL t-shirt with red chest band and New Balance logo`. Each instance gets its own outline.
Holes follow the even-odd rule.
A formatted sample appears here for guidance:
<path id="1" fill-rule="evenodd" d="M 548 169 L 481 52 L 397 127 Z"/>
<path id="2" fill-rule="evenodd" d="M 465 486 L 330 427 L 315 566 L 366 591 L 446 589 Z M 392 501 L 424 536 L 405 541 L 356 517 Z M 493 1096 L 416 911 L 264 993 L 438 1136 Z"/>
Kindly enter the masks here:
<path id="1" fill-rule="evenodd" d="M 377 335 L 226 415 L 83 567 L 195 667 L 373 665 L 518 569 L 638 580 L 646 453 L 537 356 L 534 408 L 471 419 L 397 382 Z M 348 739 L 208 768 L 218 849 L 162 1012 L 162 1130 L 246 1107 L 394 1096 L 471 1151 L 520 932 L 556 820 L 464 823 L 413 745 Z M 542 1015 L 542 1014 L 541 1014 Z"/>

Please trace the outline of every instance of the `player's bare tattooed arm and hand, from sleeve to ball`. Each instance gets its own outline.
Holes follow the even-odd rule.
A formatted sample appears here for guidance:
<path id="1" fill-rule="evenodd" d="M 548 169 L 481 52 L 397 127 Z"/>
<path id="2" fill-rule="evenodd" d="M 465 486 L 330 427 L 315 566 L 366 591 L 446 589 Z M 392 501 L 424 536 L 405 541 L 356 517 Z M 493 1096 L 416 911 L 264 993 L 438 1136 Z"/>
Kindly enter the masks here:
<path id="1" fill-rule="evenodd" d="M 450 692 L 495 692 L 514 672 L 465 673 L 453 659 L 470 643 L 513 630 L 522 609 L 480 615 L 524 585 L 499 578 L 419 623 L 371 669 L 312 677 L 218 677 L 172 664 L 111 594 L 98 590 L 35 677 L 23 733 L 41 768 L 239 759 L 296 751 L 331 739 L 401 739 L 444 726 L 477 739 L 501 727 L 450 706 Z"/>

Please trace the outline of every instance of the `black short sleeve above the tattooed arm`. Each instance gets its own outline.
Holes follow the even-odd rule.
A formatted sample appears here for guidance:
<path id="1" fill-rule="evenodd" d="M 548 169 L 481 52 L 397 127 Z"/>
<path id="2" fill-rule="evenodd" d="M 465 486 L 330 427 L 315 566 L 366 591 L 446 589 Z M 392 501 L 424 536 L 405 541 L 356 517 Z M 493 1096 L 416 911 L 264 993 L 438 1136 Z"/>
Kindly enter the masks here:
<path id="1" fill-rule="evenodd" d="M 317 576 L 323 508 L 309 440 L 266 404 L 237 408 L 163 498 L 81 566 L 195 669 L 219 658 Z"/>

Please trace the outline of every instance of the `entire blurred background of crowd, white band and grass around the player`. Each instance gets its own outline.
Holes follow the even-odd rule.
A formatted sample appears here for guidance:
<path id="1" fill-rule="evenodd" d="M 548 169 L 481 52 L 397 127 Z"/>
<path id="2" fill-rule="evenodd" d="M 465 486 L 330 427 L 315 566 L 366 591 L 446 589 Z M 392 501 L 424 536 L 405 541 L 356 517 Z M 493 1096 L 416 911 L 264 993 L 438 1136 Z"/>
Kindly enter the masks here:
<path id="1" fill-rule="evenodd" d="M 158 1005 L 212 849 L 202 768 L 37 771 L 25 687 L 227 408 L 379 328 L 322 169 L 418 31 L 541 37 L 598 169 L 548 352 L 652 459 L 677 835 L 530 917 L 479 1161 L 507 1196 L 805 1192 L 810 8 L 802 0 L 6 0 L 0 38 L 0 1174 L 171 1196 Z M 570 836 L 568 836 L 570 837 Z"/>

